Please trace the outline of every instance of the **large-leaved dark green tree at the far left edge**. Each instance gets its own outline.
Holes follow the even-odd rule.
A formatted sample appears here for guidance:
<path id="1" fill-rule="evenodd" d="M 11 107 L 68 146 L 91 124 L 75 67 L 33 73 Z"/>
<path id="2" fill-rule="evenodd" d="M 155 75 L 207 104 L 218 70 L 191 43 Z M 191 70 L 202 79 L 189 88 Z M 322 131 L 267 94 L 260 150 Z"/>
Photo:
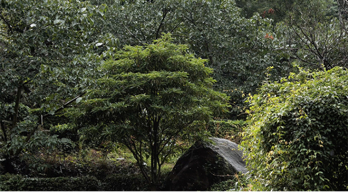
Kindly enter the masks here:
<path id="1" fill-rule="evenodd" d="M 17 156 L 23 148 L 54 145 L 50 138 L 42 139 L 38 126 L 71 106 L 93 84 L 85 76 L 95 75 L 92 70 L 106 56 L 102 52 L 115 46 L 112 36 L 95 28 L 105 9 L 79 1 L 1 1 L 2 152 Z M 41 109 L 43 115 L 28 112 L 19 120 L 21 103 Z"/>

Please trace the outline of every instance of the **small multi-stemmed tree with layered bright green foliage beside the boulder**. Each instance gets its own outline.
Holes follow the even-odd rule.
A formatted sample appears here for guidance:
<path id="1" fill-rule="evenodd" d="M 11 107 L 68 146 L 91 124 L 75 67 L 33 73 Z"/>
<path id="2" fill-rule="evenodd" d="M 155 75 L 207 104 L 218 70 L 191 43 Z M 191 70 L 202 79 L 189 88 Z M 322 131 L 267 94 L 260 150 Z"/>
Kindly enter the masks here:
<path id="1" fill-rule="evenodd" d="M 88 92 L 78 110 L 78 123 L 90 124 L 86 135 L 128 147 L 151 190 L 161 166 L 180 146 L 177 141 L 198 135 L 199 124 L 228 107 L 226 94 L 212 89 L 207 60 L 171 41 L 168 34 L 145 47 L 125 46 L 117 60 L 102 65 L 99 87 Z M 144 166 L 148 157 L 150 173 Z"/>

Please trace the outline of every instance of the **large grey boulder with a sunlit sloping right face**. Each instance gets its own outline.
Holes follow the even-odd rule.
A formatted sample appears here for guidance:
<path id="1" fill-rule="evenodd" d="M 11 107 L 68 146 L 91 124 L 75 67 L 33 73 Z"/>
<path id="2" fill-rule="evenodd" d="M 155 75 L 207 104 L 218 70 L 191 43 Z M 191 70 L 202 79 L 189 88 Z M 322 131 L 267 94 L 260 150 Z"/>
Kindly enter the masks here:
<path id="1" fill-rule="evenodd" d="M 165 190 L 203 191 L 212 184 L 246 173 L 243 152 L 229 140 L 198 141 L 181 156 L 166 179 Z"/>

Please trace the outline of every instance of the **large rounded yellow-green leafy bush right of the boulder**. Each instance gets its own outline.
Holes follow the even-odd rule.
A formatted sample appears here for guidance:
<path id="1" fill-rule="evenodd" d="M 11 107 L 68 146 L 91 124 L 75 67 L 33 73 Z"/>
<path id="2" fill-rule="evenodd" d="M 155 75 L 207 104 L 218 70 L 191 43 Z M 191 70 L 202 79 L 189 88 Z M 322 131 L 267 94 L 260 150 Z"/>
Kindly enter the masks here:
<path id="1" fill-rule="evenodd" d="M 257 190 L 348 189 L 348 71 L 299 69 L 249 101 L 241 145 Z"/>

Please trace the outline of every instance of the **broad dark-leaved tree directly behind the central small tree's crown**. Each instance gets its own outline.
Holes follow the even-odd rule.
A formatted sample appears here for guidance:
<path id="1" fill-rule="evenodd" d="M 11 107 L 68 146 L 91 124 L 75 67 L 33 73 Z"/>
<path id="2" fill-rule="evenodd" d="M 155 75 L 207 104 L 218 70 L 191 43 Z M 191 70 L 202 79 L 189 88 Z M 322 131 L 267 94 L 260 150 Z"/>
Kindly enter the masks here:
<path id="1" fill-rule="evenodd" d="M 244 18 L 232 0 L 118 1 L 105 17 L 112 24 L 105 29 L 120 45 L 150 44 L 161 32 L 170 32 L 176 43 L 209 59 L 207 66 L 217 80 L 214 88 L 231 96 L 230 118 L 243 113 L 245 95 L 255 93 L 267 79 L 267 67 L 274 67 L 270 79 L 292 69 L 283 52 L 273 50 L 279 38 L 272 21 L 259 15 Z"/>

